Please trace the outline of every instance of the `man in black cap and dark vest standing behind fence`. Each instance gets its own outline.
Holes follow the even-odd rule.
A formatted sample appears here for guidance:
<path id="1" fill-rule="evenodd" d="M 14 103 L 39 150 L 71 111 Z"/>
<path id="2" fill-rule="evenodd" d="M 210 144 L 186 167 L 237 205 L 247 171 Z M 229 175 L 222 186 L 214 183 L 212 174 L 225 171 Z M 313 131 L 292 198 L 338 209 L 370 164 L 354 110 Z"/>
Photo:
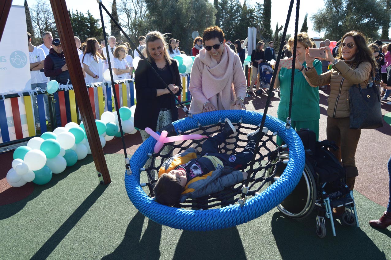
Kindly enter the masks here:
<path id="1" fill-rule="evenodd" d="M 63 47 L 61 46 L 60 39 L 53 39 L 52 48 L 49 51 L 49 55 L 45 58 L 45 67 L 44 72 L 46 77 L 50 77 L 50 80 L 55 80 L 59 84 L 72 84 L 68 66 L 66 65 L 65 56 L 63 52 Z M 71 122 L 71 113 L 70 113 L 70 105 L 69 105 L 69 93 L 68 91 L 64 91 L 65 94 L 65 108 L 66 108 L 66 120 L 67 122 Z M 57 127 L 61 125 L 65 125 L 67 122 L 61 122 L 61 114 L 60 114 L 60 105 L 58 99 L 58 93 L 54 93 L 54 99 L 57 100 L 54 103 L 56 108 L 56 122 Z M 63 123 L 63 124 L 61 124 Z M 54 126 L 55 128 L 56 126 Z M 54 129 L 53 128 L 53 129 Z"/>

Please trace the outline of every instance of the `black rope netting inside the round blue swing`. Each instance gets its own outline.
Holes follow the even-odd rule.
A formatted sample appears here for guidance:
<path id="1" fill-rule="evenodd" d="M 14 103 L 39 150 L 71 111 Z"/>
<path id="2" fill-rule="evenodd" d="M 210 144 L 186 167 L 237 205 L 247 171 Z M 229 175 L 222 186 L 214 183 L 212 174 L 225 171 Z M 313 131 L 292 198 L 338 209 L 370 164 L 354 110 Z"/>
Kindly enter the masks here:
<path id="1" fill-rule="evenodd" d="M 241 122 L 232 123 L 237 129 L 237 134 L 229 136 L 223 145 L 219 147 L 220 153 L 235 154 L 241 152 L 247 144 L 247 133 L 251 133 L 258 129 L 258 126 L 251 126 L 248 124 L 242 124 Z M 224 123 L 219 120 L 217 124 L 210 126 L 201 126 L 199 128 L 192 129 L 181 134 L 202 134 L 205 136 L 212 137 L 214 134 L 219 133 L 222 130 Z M 269 132 L 270 133 L 270 132 Z M 282 147 L 276 145 L 273 140 L 274 134 L 265 134 L 259 143 L 259 149 L 255 154 L 255 160 L 253 163 L 244 165 L 241 169 L 244 172 L 248 172 L 248 178 L 242 183 L 238 183 L 234 186 L 225 188 L 223 191 L 211 194 L 196 199 L 187 199 L 183 204 L 180 204 L 181 208 L 199 208 L 208 209 L 221 205 L 234 204 L 238 200 L 238 195 L 242 195 L 242 186 L 244 183 L 248 183 L 248 192 L 246 195 L 255 195 L 257 192 L 264 187 L 264 185 L 274 180 L 276 170 L 280 163 L 282 163 L 280 152 Z M 154 171 L 158 172 L 161 165 L 169 159 L 172 155 L 184 152 L 188 147 L 197 149 L 197 157 L 201 154 L 202 140 L 186 140 L 181 142 L 169 143 L 163 145 L 159 152 L 149 154 L 151 160 L 151 166 L 145 168 L 148 179 L 151 180 L 147 185 L 150 186 L 150 191 L 156 180 L 153 179 Z M 167 147 L 167 148 L 165 148 Z M 166 150 L 166 154 L 162 154 L 162 151 Z"/>

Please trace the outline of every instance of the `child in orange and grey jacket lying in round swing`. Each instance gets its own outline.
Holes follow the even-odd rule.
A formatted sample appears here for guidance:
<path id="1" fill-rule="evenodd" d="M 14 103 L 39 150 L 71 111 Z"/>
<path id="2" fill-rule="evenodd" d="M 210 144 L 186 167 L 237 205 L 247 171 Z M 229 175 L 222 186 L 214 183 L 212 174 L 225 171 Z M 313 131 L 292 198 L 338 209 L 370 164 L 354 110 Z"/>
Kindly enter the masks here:
<path id="1" fill-rule="evenodd" d="M 226 118 L 222 132 L 203 143 L 200 158 L 197 158 L 196 150 L 190 147 L 163 163 L 154 188 L 156 201 L 175 207 L 187 198 L 220 192 L 246 179 L 248 173 L 237 169 L 253 158 L 258 132 L 259 129 L 247 135 L 248 143 L 242 152 L 235 155 L 221 154 L 218 146 L 236 133 L 235 127 Z"/>

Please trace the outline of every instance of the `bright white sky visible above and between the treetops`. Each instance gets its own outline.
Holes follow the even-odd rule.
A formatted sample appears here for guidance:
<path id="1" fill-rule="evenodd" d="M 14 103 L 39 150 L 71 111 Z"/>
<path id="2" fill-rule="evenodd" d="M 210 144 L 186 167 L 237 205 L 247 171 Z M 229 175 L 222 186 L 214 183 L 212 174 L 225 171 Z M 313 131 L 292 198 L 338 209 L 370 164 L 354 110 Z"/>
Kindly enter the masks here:
<path id="1" fill-rule="evenodd" d="M 209 0 L 213 3 L 213 0 Z M 33 6 L 35 4 L 36 0 L 27 0 L 27 4 L 29 6 Z M 48 2 L 48 0 L 47 0 Z M 111 0 L 103 0 L 102 1 L 104 6 L 111 11 Z M 241 3 L 244 2 L 244 0 L 240 0 Z M 255 2 L 261 2 L 263 3 L 263 0 L 247 0 L 247 3 L 249 5 L 255 5 Z M 276 23 L 278 25 L 284 25 L 285 20 L 288 13 L 289 3 L 290 0 L 273 0 L 272 1 L 272 8 L 271 8 L 271 29 L 273 31 L 276 28 Z M 13 5 L 23 5 L 24 0 L 13 0 Z M 49 3 L 49 2 L 48 2 Z M 83 13 L 87 13 L 87 10 L 90 10 L 90 13 L 95 18 L 100 18 L 99 14 L 99 5 L 97 4 L 96 0 L 66 0 L 66 4 L 68 9 L 73 9 L 76 11 L 81 11 Z M 301 29 L 301 25 L 303 24 L 304 16 L 306 13 L 308 13 L 308 34 L 312 38 L 323 38 L 324 32 L 317 33 L 312 30 L 312 22 L 310 20 L 310 16 L 312 14 L 316 13 L 319 9 L 322 9 L 324 6 L 323 0 L 301 0 L 300 1 L 300 14 L 299 14 L 299 31 Z M 291 20 L 289 21 L 289 27 L 288 27 L 288 34 L 293 35 L 294 34 L 294 22 L 295 22 L 295 16 L 296 16 L 296 1 L 294 3 L 294 11 L 292 11 L 291 14 Z M 105 23 L 108 22 L 108 16 L 105 17 Z M 109 28 L 109 27 L 108 27 Z"/>

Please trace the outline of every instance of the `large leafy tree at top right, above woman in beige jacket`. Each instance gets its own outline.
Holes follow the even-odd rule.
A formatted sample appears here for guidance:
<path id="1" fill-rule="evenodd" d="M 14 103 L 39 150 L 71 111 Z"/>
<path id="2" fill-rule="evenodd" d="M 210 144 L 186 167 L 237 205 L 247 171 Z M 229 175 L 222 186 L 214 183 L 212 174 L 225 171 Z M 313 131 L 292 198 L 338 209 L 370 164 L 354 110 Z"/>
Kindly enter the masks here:
<path id="1" fill-rule="evenodd" d="M 325 8 L 311 17 L 316 32 L 338 41 L 351 30 L 360 30 L 368 38 L 379 38 L 378 30 L 387 18 L 379 0 L 325 0 Z"/>

